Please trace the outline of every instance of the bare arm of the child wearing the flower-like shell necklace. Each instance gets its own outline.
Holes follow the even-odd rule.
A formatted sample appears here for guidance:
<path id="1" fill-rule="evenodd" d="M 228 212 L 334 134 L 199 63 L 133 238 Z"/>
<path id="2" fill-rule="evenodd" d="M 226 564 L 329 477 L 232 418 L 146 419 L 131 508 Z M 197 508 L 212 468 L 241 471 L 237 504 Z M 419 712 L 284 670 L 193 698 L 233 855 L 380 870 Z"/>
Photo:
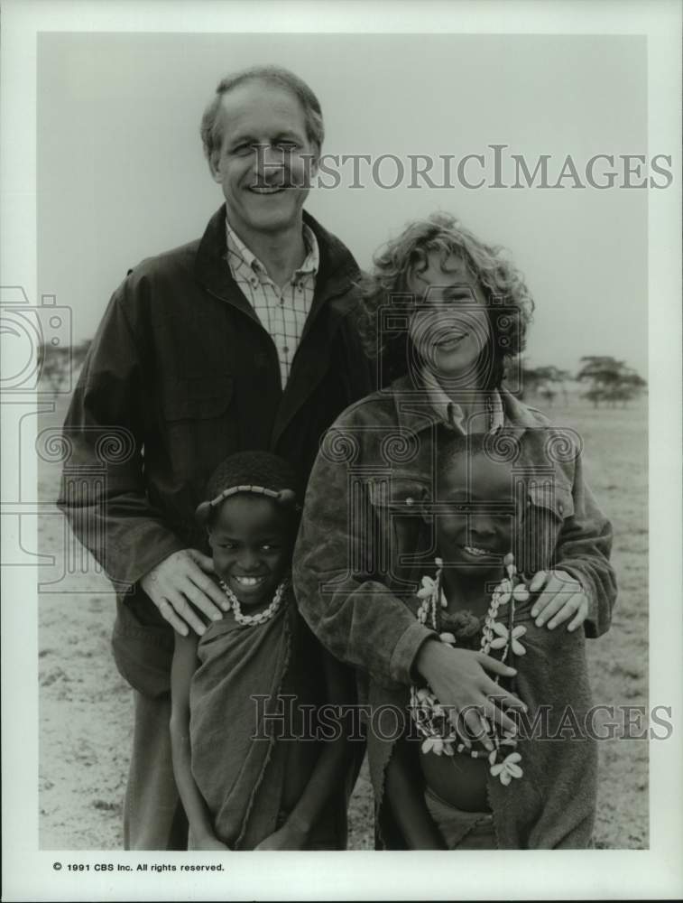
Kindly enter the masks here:
<path id="1" fill-rule="evenodd" d="M 384 777 L 384 796 L 409 850 L 446 850 L 422 796 L 422 775 L 404 738 L 394 745 Z"/>

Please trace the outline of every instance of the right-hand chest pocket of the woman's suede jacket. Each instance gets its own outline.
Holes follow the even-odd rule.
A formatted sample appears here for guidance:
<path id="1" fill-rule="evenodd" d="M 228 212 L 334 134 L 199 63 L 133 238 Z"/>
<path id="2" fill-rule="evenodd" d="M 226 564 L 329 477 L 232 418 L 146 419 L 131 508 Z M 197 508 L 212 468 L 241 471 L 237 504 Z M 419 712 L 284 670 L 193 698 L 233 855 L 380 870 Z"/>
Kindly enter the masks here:
<path id="1" fill-rule="evenodd" d="M 519 570 L 532 574 L 554 568 L 559 536 L 573 516 L 574 499 L 568 485 L 552 479 L 532 483 L 515 544 Z"/>

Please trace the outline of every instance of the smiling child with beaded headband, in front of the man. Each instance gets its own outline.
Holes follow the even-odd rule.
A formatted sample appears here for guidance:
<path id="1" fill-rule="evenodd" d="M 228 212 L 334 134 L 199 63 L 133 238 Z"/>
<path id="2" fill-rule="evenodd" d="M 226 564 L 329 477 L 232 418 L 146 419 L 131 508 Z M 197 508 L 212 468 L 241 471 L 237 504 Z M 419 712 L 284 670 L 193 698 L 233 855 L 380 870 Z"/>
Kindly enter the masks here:
<path id="1" fill-rule="evenodd" d="M 334 739 L 316 741 L 310 712 L 348 702 L 349 687 L 291 591 L 294 486 L 286 461 L 241 452 L 198 507 L 231 607 L 201 637 L 175 638 L 171 747 L 191 849 L 346 845 L 345 731 L 337 722 L 330 734 L 328 719 Z"/>

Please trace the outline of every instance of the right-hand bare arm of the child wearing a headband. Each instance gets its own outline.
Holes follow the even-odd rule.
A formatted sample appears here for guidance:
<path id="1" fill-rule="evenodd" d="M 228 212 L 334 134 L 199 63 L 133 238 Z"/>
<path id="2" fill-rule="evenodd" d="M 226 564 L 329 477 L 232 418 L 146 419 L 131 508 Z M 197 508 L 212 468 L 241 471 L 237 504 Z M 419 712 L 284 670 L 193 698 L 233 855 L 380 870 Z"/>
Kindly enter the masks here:
<path id="1" fill-rule="evenodd" d="M 343 716 L 344 707 L 355 698 L 353 674 L 348 668 L 341 666 L 327 651 L 323 651 L 323 666 L 328 689 L 326 699 L 331 707 L 330 711 L 334 711 L 335 707 L 340 706 Z M 325 741 L 313 774 L 309 778 L 309 783 L 297 805 L 291 810 L 285 824 L 260 843 L 256 849 L 300 850 L 332 792 L 344 784 L 346 771 L 350 767 L 353 755 L 348 740 L 346 721 L 344 717 L 337 718 L 336 715 L 327 721 L 334 739 Z"/>

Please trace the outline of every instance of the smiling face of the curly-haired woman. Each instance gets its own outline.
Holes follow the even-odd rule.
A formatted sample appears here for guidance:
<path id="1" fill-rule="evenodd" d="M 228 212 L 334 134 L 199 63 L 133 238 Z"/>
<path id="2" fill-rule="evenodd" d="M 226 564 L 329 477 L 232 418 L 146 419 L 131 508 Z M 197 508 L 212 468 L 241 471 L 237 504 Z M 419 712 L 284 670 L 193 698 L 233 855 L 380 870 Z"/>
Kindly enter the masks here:
<path id="1" fill-rule="evenodd" d="M 479 360 L 490 345 L 491 328 L 481 285 L 462 257 L 428 256 L 427 268 L 408 279 L 418 309 L 412 314 L 411 341 L 425 365 L 443 384 L 475 386 Z"/>

